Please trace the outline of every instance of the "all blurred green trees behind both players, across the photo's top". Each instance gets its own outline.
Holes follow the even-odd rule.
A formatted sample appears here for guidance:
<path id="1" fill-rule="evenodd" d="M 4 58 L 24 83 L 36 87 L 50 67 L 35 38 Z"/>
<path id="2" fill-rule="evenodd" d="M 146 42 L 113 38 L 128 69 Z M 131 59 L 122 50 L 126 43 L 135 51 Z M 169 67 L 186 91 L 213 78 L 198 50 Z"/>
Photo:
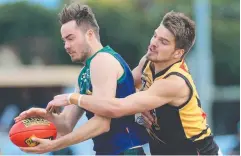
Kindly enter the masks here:
<path id="1" fill-rule="evenodd" d="M 130 64 L 138 64 L 153 31 L 171 10 L 193 16 L 193 0 L 75 0 L 89 4 L 100 25 L 103 45 L 112 46 Z M 56 10 L 28 3 L 0 6 L 0 44 L 17 47 L 25 64 L 35 56 L 45 64 L 70 64 L 60 39 Z M 239 1 L 212 0 L 212 51 L 215 83 L 239 85 Z M 195 51 L 193 51 L 195 52 Z"/>

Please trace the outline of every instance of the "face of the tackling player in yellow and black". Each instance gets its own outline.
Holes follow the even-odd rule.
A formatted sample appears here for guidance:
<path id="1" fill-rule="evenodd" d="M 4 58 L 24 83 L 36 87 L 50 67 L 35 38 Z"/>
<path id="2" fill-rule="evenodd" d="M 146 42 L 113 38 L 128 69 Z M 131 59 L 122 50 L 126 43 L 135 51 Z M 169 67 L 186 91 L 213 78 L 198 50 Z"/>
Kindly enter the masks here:
<path id="1" fill-rule="evenodd" d="M 152 62 L 165 62 L 173 59 L 175 37 L 162 24 L 155 30 L 147 50 L 147 59 Z"/>

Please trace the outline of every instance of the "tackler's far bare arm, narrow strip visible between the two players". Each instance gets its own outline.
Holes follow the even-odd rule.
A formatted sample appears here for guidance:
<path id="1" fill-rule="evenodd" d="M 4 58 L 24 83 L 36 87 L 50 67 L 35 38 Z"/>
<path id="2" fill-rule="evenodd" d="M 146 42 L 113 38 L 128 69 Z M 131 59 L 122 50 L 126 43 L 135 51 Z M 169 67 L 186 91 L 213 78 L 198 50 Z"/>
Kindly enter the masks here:
<path id="1" fill-rule="evenodd" d="M 132 70 L 132 75 L 133 75 L 133 78 L 134 78 L 134 81 L 135 81 L 135 87 L 136 88 L 140 88 L 140 86 L 141 86 L 142 68 L 143 68 L 145 62 L 146 62 L 146 56 L 144 55 L 141 58 L 138 66 Z"/>

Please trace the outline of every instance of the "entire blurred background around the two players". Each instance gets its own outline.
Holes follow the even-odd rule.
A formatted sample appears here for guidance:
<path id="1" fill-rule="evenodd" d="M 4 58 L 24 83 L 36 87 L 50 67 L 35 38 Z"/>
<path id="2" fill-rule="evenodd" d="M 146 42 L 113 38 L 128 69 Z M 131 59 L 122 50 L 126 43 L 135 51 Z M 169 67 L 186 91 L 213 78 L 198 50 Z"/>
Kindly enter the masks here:
<path id="1" fill-rule="evenodd" d="M 145 54 L 163 15 L 180 11 L 196 22 L 197 39 L 187 57 L 202 107 L 224 154 L 239 154 L 240 1 L 77 0 L 96 14 L 103 45 L 133 69 Z M 53 96 L 73 91 L 80 64 L 64 50 L 58 12 L 68 0 L 0 0 L 0 151 L 25 154 L 8 132 L 14 117 L 44 108 Z M 85 116 L 77 126 L 86 122 Z M 94 154 L 92 140 L 48 154 Z"/>

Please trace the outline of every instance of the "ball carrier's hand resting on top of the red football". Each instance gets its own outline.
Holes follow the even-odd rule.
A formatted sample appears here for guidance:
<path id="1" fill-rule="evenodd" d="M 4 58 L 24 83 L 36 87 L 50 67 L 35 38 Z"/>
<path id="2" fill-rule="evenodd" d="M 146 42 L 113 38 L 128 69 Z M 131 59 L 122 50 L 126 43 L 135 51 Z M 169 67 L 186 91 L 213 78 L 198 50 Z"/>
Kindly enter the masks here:
<path id="1" fill-rule="evenodd" d="M 19 122 L 23 119 L 31 118 L 31 117 L 41 117 L 44 119 L 49 119 L 50 116 L 51 116 L 51 114 L 47 113 L 47 111 L 43 108 L 30 108 L 26 111 L 23 111 L 14 120 L 15 120 L 15 122 Z"/>

